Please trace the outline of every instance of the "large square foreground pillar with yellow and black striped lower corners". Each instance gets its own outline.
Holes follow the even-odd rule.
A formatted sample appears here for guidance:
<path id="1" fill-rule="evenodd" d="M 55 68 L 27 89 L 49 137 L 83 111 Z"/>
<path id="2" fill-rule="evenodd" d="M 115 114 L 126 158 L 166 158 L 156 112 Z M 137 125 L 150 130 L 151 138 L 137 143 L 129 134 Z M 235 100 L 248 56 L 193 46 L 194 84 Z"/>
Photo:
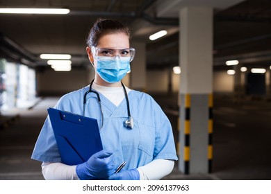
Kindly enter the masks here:
<path id="1" fill-rule="evenodd" d="M 180 15 L 179 170 L 210 173 L 213 157 L 213 8 Z"/>

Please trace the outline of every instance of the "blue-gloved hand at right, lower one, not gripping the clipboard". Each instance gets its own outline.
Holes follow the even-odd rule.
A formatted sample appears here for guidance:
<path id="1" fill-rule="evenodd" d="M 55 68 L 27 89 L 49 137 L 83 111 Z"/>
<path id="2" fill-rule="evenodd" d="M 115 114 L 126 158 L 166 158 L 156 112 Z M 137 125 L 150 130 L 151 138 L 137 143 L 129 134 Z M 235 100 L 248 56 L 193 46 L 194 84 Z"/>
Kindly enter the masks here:
<path id="1" fill-rule="evenodd" d="M 139 172 L 136 168 L 131 170 L 120 170 L 119 173 L 115 173 L 108 177 L 109 180 L 139 180 Z"/>

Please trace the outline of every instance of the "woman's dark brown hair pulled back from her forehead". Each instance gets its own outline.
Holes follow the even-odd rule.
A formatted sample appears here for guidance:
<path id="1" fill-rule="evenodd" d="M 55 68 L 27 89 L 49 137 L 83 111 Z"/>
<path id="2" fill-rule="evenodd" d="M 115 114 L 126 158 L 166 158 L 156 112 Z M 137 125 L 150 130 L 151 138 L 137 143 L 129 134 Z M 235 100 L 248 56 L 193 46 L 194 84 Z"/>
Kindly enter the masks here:
<path id="1" fill-rule="evenodd" d="M 120 23 L 120 21 L 99 18 L 90 29 L 90 33 L 88 34 L 86 41 L 87 46 L 97 46 L 99 39 L 101 39 L 103 35 L 113 33 L 125 33 L 130 39 L 129 28 Z"/>

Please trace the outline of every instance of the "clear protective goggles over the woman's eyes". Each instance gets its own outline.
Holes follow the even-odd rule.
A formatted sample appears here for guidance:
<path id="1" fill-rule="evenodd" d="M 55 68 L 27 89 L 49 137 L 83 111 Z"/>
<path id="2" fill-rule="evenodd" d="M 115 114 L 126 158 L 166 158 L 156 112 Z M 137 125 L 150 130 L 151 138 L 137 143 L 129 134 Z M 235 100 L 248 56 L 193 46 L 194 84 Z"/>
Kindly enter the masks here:
<path id="1" fill-rule="evenodd" d="M 135 48 L 99 48 L 92 46 L 92 53 L 95 58 L 97 57 L 107 57 L 107 58 L 115 58 L 118 56 L 120 60 L 122 58 L 130 58 L 130 62 L 136 55 Z"/>

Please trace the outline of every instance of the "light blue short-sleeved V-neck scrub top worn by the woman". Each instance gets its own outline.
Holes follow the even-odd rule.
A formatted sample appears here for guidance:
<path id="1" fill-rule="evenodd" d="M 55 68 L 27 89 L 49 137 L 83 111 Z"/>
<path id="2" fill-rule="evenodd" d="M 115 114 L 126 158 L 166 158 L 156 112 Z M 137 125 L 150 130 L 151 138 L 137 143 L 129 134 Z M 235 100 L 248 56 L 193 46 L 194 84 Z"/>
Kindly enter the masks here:
<path id="1" fill-rule="evenodd" d="M 83 96 L 88 89 L 89 86 L 65 94 L 54 108 L 83 115 Z M 100 130 L 101 141 L 104 149 L 113 150 L 116 166 L 126 161 L 124 169 L 132 169 L 145 166 L 154 159 L 178 159 L 170 121 L 151 96 L 135 90 L 129 92 L 133 129 L 124 126 L 128 115 L 125 98 L 117 107 L 102 94 L 100 98 L 104 114 L 104 126 Z M 101 109 L 96 94 L 89 93 L 85 116 L 96 118 L 99 127 Z M 31 158 L 44 162 L 61 162 L 49 116 L 44 122 Z"/>

